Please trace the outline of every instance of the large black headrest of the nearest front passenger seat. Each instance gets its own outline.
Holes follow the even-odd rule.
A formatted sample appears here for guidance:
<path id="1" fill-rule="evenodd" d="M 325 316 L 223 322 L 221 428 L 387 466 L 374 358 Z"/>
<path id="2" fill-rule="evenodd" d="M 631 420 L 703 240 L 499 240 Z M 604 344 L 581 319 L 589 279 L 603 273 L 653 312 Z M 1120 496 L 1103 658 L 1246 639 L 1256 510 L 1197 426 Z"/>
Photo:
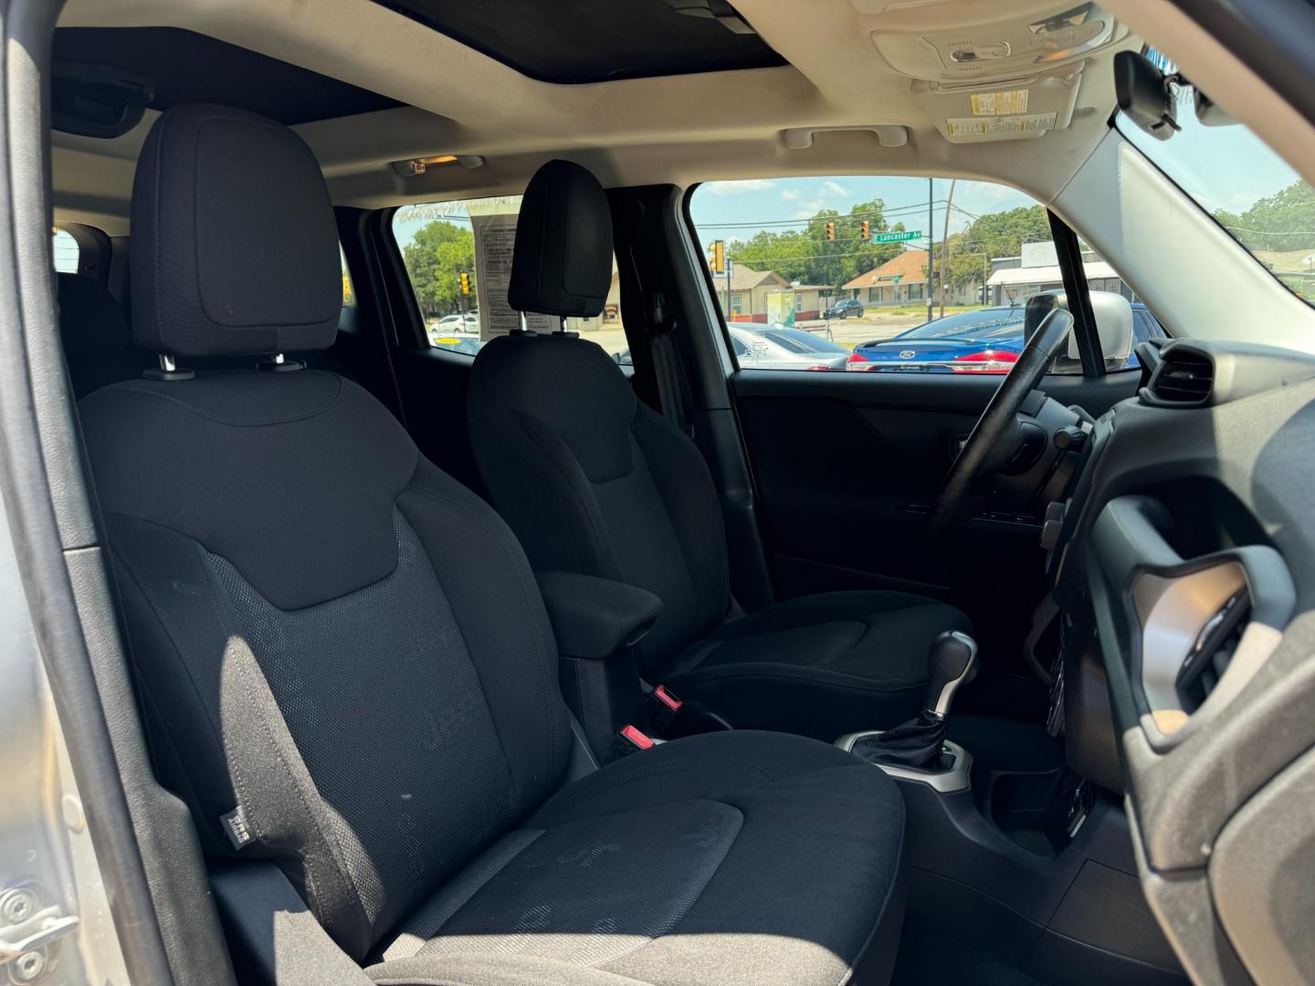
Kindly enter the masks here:
<path id="1" fill-rule="evenodd" d="M 292 130 L 180 105 L 151 128 L 132 209 L 133 338 L 187 356 L 321 350 L 342 306 L 323 175 Z"/>

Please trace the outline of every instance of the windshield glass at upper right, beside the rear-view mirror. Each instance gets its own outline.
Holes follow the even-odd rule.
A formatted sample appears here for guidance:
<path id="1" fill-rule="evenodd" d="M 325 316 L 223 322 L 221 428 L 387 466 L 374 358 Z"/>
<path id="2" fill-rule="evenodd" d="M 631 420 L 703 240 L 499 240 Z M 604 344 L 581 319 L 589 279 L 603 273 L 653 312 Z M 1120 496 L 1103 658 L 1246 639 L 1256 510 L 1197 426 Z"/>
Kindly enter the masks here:
<path id="1" fill-rule="evenodd" d="M 1148 51 L 1166 72 L 1174 66 Z M 1315 189 L 1241 124 L 1207 126 L 1197 118 L 1195 89 L 1177 87 L 1177 124 L 1168 141 L 1122 113 L 1119 133 L 1186 192 L 1293 293 L 1315 294 Z"/>

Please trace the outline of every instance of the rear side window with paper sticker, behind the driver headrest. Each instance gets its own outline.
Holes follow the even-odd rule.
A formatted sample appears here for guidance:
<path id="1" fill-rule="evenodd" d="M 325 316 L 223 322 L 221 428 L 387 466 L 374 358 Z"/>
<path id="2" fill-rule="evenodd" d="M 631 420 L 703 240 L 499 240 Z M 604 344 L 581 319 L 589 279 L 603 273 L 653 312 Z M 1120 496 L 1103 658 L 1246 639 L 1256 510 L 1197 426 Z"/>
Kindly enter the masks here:
<path id="1" fill-rule="evenodd" d="M 473 356 L 493 337 L 519 326 L 521 314 L 506 304 L 519 212 L 515 195 L 404 205 L 393 214 L 393 237 L 431 347 Z M 548 316 L 525 318 L 530 329 L 558 327 Z M 602 313 L 568 318 L 567 329 L 629 365 L 615 260 Z"/>

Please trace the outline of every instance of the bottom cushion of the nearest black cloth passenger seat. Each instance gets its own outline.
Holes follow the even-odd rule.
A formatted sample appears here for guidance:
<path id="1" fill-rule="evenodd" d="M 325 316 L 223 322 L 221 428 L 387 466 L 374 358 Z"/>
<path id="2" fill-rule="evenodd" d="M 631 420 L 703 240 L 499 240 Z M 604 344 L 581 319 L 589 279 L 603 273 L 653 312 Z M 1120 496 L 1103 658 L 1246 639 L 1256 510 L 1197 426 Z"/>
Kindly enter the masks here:
<path id="1" fill-rule="evenodd" d="M 842 982 L 899 906 L 888 778 L 784 734 L 693 739 L 551 798 L 452 881 L 459 897 L 422 906 L 372 975 L 438 982 L 497 956 L 526 982 Z"/>

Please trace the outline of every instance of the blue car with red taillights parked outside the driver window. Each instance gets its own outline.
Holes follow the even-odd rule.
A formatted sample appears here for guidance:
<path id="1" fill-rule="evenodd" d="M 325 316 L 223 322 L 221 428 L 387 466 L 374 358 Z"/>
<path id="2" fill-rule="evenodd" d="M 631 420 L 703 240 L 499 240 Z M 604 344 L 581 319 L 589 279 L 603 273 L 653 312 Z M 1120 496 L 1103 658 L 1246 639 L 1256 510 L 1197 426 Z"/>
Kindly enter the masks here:
<path id="1" fill-rule="evenodd" d="M 896 373 L 1007 373 L 1023 350 L 1023 305 L 980 308 L 935 318 L 892 339 L 853 347 L 846 369 Z M 1132 348 L 1164 337 L 1159 319 L 1140 301 L 1132 305 Z M 1060 356 L 1060 359 L 1066 359 Z M 1120 369 L 1137 365 L 1128 354 Z"/>

